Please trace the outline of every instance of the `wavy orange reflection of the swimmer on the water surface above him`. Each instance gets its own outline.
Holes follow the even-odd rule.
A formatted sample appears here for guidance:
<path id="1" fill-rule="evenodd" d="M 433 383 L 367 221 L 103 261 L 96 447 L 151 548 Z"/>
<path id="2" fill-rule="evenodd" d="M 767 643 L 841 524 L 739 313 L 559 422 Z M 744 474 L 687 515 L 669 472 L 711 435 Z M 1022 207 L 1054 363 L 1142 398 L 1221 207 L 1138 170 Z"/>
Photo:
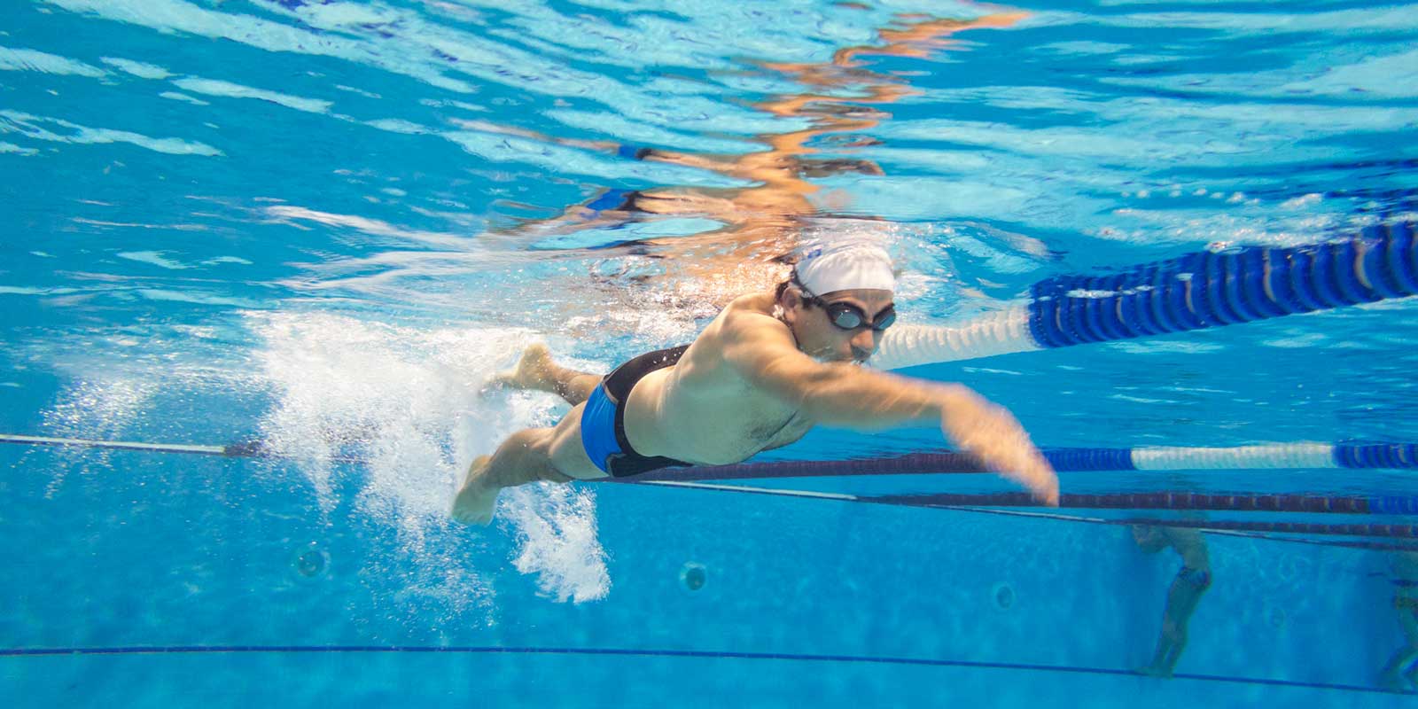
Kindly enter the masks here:
<path id="1" fill-rule="evenodd" d="M 828 136 L 858 136 L 839 142 L 838 147 L 871 143 L 859 133 L 871 130 L 891 115 L 872 108 L 902 101 L 919 94 L 895 74 L 861 68 L 865 57 L 926 57 L 951 44 L 953 34 L 971 28 L 1005 28 L 1021 18 L 1021 13 L 988 14 L 971 20 L 944 20 L 926 16 L 900 16 L 892 27 L 876 33 L 876 44 L 837 50 L 825 62 L 759 62 L 757 67 L 778 77 L 787 77 L 810 88 L 808 92 L 774 95 L 753 108 L 769 115 L 807 125 L 784 133 L 764 133 L 752 140 L 764 150 L 742 155 L 705 155 L 661 147 L 623 145 L 608 140 L 563 139 L 533 133 L 513 126 L 485 122 L 467 123 L 488 132 L 503 132 L 543 142 L 613 153 L 620 157 L 695 167 L 725 177 L 743 180 L 743 187 L 648 187 L 641 190 L 611 189 L 587 203 L 564 210 L 547 220 L 529 220 L 503 234 L 489 234 L 486 241 L 509 240 L 525 244 L 527 238 L 545 238 L 591 228 L 615 228 L 631 221 L 657 217 L 699 217 L 723 224 L 710 231 L 681 237 L 649 237 L 615 242 L 649 247 L 642 255 L 669 259 L 679 282 L 715 281 L 715 291 L 725 298 L 767 288 L 770 274 L 760 268 L 798 242 L 804 220 L 821 214 L 814 194 L 821 186 L 810 179 L 844 173 L 883 174 L 882 169 L 864 159 L 817 157 L 814 142 Z M 832 203 L 835 197 L 815 201 Z M 871 218 L 871 217 L 866 217 Z M 699 286 L 689 286 L 699 291 Z"/>

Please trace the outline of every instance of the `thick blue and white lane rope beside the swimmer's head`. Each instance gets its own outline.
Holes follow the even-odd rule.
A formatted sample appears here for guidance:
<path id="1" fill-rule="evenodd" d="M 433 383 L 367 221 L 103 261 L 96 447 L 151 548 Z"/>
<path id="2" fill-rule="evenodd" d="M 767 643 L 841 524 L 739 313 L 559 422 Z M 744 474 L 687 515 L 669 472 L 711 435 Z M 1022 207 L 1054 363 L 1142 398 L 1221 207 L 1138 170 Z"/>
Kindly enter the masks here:
<path id="1" fill-rule="evenodd" d="M 871 364 L 937 362 L 1222 328 L 1418 295 L 1412 221 L 1300 247 L 1185 254 L 1113 275 L 1068 274 L 1029 299 L 953 325 L 892 328 Z"/>

